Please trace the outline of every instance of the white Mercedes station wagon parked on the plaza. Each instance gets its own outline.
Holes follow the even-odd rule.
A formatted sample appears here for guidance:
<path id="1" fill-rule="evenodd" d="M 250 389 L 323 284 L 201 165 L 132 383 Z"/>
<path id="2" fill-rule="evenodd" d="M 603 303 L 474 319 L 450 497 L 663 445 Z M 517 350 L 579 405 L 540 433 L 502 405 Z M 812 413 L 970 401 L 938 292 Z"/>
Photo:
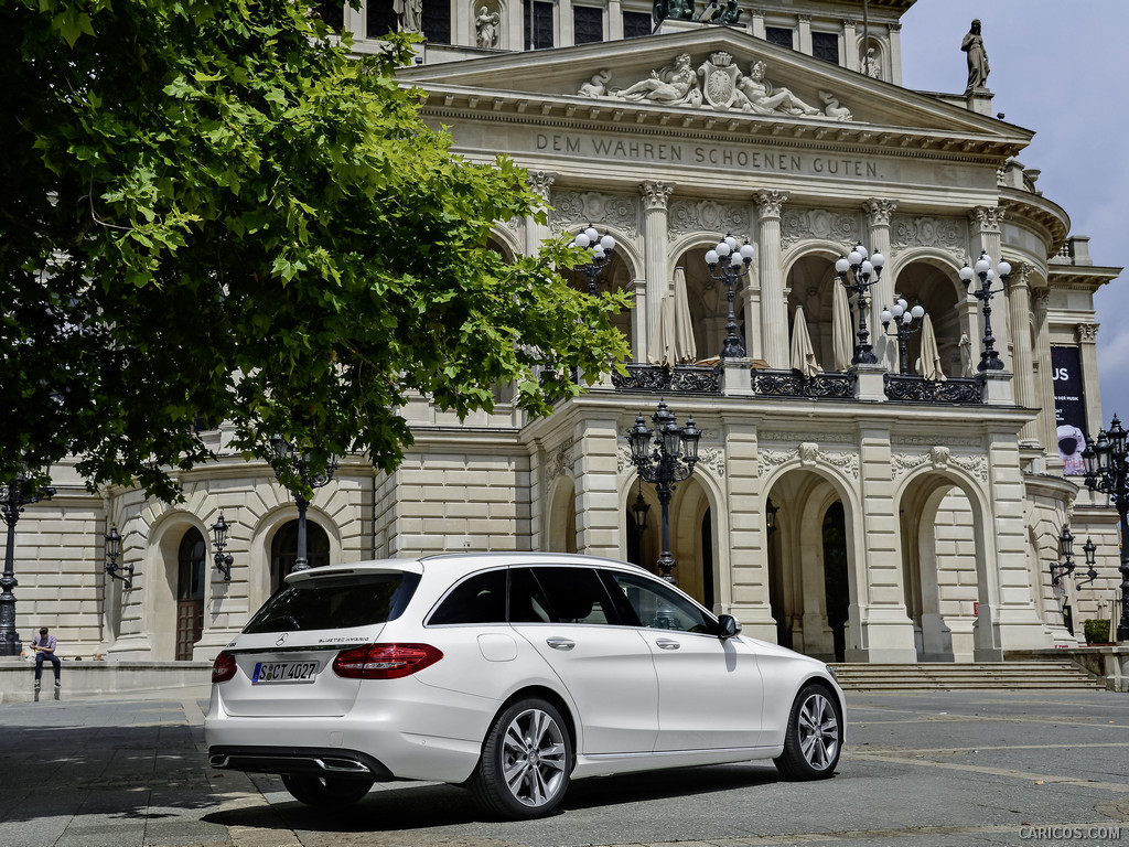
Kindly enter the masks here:
<path id="1" fill-rule="evenodd" d="M 211 766 L 280 774 L 315 806 L 426 779 L 536 818 L 590 776 L 772 759 L 829 777 L 843 742 L 825 664 L 634 565 L 563 553 L 291 574 L 212 683 Z"/>

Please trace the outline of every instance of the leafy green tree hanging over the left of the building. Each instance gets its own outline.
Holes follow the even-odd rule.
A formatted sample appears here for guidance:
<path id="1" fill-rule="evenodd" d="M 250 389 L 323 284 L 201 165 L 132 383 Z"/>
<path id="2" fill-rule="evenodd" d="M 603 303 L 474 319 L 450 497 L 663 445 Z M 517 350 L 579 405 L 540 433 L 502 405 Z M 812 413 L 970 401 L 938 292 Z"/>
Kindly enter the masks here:
<path id="1" fill-rule="evenodd" d="M 73 455 L 175 499 L 194 419 L 392 470 L 413 392 L 465 414 L 515 383 L 544 414 L 537 366 L 576 393 L 625 358 L 627 303 L 569 288 L 563 242 L 488 248 L 544 209 L 423 124 L 411 37 L 331 35 L 305 0 L 0 0 L 6 478 Z"/>

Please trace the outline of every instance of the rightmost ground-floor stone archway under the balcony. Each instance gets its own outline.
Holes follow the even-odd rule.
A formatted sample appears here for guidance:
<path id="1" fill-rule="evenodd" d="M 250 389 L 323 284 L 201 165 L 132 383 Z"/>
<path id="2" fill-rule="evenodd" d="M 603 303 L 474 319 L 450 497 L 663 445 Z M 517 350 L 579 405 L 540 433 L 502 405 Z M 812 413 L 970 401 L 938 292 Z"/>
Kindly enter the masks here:
<path id="1" fill-rule="evenodd" d="M 998 658 L 992 515 L 979 480 L 935 455 L 898 487 L 902 585 L 920 661 Z"/>

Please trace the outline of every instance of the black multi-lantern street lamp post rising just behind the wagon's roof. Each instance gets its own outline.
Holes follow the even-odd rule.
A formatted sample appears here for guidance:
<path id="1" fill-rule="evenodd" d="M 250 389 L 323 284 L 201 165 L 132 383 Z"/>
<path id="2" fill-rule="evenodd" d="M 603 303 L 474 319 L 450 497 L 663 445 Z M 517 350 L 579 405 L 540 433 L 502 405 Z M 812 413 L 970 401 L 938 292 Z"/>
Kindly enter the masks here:
<path id="1" fill-rule="evenodd" d="M 666 403 L 658 401 L 658 409 L 650 417 L 655 429 L 647 429 L 642 414 L 636 418 L 628 431 L 631 462 L 639 471 L 639 478 L 655 484 L 655 494 L 663 513 L 663 551 L 658 557 L 658 569 L 664 579 L 674 582 L 674 557 L 671 556 L 671 496 L 676 483 L 689 479 L 698 462 L 698 442 L 701 433 L 694 427 L 693 416 L 685 427 L 679 427 L 674 412 Z"/>

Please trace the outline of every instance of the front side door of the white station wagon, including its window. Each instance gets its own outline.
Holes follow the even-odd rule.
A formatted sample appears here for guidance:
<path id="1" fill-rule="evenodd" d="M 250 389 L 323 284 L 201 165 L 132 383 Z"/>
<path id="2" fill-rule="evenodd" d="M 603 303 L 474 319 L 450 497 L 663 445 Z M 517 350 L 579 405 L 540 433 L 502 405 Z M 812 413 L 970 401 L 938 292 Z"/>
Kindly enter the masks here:
<path id="1" fill-rule="evenodd" d="M 658 674 L 656 751 L 761 743 L 763 684 L 750 641 L 720 639 L 697 603 L 644 576 L 606 571 L 623 593 Z"/>

